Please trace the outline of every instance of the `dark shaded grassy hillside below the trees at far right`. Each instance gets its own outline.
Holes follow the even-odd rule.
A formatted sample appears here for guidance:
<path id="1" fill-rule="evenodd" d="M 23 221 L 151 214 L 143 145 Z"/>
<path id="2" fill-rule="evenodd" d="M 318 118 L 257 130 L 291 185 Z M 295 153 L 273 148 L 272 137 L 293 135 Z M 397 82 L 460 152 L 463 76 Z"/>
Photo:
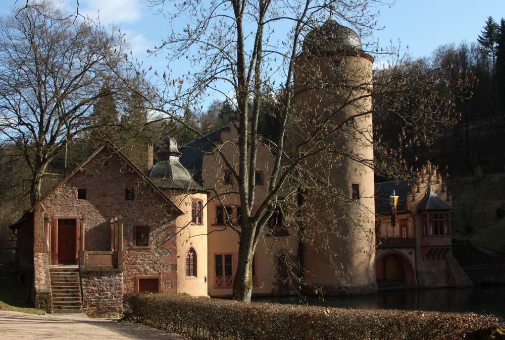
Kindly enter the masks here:
<path id="1" fill-rule="evenodd" d="M 505 174 L 449 178 L 452 193 L 452 238 L 469 240 L 475 245 L 505 250 L 505 217 L 496 216 L 497 208 L 505 208 Z"/>

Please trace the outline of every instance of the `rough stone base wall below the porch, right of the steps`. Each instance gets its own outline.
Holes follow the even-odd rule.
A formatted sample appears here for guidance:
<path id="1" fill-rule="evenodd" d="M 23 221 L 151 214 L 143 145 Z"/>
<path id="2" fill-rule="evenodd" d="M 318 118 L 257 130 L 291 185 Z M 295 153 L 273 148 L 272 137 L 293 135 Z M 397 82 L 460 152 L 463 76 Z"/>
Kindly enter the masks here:
<path id="1" fill-rule="evenodd" d="M 84 309 L 100 312 L 123 311 L 123 272 L 83 272 L 82 287 Z"/>

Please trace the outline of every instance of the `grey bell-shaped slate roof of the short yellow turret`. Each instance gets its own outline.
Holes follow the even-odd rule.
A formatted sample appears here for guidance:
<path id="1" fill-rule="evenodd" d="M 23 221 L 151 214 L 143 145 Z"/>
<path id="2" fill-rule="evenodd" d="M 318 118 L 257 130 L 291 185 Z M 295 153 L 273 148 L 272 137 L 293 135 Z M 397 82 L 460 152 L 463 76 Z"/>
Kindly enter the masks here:
<path id="1" fill-rule="evenodd" d="M 182 154 L 175 139 L 165 136 L 156 154 L 159 160 L 149 176 L 151 181 L 162 189 L 194 189 L 191 175 L 179 161 Z"/>

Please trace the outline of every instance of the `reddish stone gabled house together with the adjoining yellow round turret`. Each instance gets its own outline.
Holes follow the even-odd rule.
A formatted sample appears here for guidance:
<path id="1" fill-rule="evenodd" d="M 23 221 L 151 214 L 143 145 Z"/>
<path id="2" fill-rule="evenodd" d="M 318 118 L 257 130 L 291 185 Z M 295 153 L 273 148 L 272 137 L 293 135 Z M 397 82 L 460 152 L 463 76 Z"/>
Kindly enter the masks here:
<path id="1" fill-rule="evenodd" d="M 207 224 L 191 218 L 191 202 L 207 194 L 187 171 L 173 176 L 184 175 L 177 154 L 160 153 L 151 181 L 106 142 L 11 226 L 36 307 L 121 310 L 127 292 L 207 295 L 206 261 L 196 261 L 206 258 Z"/>

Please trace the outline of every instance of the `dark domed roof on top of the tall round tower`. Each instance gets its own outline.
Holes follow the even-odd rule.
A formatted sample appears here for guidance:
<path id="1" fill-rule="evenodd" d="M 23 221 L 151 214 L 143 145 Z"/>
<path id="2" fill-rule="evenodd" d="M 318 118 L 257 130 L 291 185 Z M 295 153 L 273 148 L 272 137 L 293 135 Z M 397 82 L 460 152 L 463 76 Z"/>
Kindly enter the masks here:
<path id="1" fill-rule="evenodd" d="M 322 26 L 313 29 L 305 36 L 302 47 L 304 51 L 309 52 L 363 50 L 358 33 L 340 25 L 331 17 Z"/>

